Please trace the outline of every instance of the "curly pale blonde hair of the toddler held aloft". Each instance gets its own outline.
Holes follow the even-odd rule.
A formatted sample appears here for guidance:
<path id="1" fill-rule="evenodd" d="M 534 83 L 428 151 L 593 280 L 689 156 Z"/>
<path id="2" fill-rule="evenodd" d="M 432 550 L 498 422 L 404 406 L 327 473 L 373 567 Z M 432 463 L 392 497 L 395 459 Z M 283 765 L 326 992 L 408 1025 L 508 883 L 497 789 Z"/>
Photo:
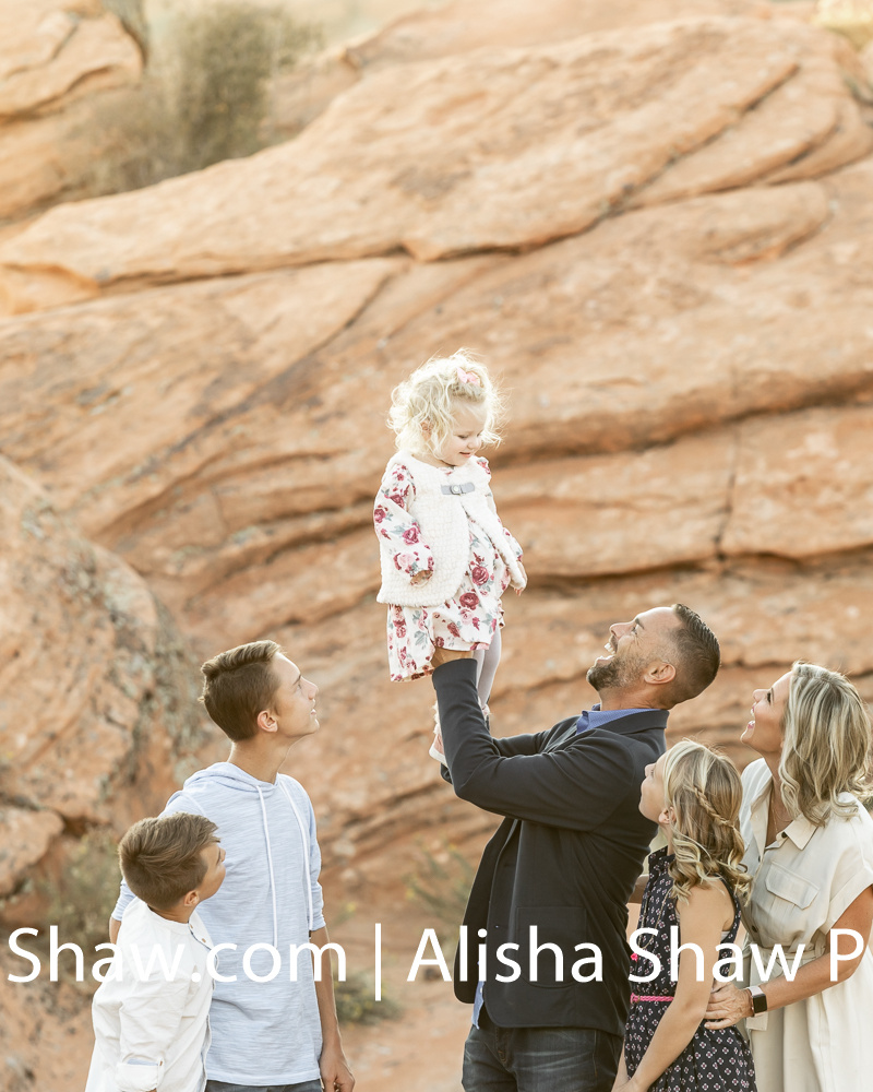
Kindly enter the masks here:
<path id="1" fill-rule="evenodd" d="M 476 376 L 479 383 L 464 382 L 459 372 Z M 500 443 L 503 395 L 485 367 L 466 349 L 428 360 L 394 388 L 388 425 L 396 434 L 398 450 L 412 454 L 439 453 L 452 434 L 452 417 L 458 406 L 485 406 L 482 443 Z"/>

